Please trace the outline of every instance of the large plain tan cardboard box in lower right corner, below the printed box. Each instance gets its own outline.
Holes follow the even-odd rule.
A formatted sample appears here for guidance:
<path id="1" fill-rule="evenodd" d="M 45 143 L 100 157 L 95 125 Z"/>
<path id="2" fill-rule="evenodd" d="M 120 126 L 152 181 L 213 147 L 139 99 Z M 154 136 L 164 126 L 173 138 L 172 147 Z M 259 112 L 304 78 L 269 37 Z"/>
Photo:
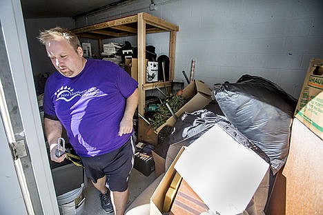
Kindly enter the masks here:
<path id="1" fill-rule="evenodd" d="M 284 169 L 277 173 L 266 214 L 323 214 L 323 141 L 298 119 Z"/>

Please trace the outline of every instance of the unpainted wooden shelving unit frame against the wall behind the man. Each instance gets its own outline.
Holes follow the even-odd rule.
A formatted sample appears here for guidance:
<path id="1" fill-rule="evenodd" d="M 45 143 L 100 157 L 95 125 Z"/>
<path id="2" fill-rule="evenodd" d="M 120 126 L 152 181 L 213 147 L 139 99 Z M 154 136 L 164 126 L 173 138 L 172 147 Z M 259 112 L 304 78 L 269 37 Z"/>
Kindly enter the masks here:
<path id="1" fill-rule="evenodd" d="M 137 35 L 138 48 L 138 83 L 139 83 L 139 104 L 138 111 L 144 115 L 146 90 L 151 90 L 158 86 L 159 88 L 170 87 L 174 79 L 175 68 L 175 47 L 176 34 L 179 30 L 177 25 L 159 19 L 151 14 L 141 12 L 128 17 L 122 17 L 110 21 L 104 21 L 94 25 L 88 25 L 82 28 L 72 29 L 72 32 L 78 37 L 99 40 L 99 52 L 103 52 L 103 39 L 114 37 L 127 37 Z M 146 34 L 157 32 L 170 32 L 169 40 L 169 77 L 170 81 L 146 83 Z"/>

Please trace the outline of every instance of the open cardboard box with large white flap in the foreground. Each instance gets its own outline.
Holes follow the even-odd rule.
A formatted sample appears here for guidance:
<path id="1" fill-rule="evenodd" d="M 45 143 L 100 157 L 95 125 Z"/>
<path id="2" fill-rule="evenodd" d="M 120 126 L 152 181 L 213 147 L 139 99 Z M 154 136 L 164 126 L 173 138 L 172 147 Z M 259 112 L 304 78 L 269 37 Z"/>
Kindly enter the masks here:
<path id="1" fill-rule="evenodd" d="M 164 196 L 176 171 L 213 212 L 239 214 L 251 201 L 268 166 L 215 125 L 179 151 L 150 198 L 150 214 L 164 213 Z"/>

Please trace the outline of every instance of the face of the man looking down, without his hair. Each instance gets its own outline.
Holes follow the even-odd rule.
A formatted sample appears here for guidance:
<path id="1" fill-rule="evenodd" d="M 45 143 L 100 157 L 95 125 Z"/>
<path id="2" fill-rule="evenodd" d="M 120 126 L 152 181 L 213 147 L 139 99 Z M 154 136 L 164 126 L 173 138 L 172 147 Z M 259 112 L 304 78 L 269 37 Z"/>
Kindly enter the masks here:
<path id="1" fill-rule="evenodd" d="M 72 78 L 77 76 L 84 68 L 81 47 L 75 51 L 65 39 L 50 41 L 46 44 L 46 51 L 52 64 L 63 76 Z"/>

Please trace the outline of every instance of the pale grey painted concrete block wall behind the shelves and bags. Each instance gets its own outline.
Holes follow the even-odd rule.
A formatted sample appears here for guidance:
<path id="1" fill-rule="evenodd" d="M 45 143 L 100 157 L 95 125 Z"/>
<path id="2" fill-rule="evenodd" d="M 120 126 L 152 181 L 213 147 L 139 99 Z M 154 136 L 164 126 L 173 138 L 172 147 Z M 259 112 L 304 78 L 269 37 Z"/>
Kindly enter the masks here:
<path id="1" fill-rule="evenodd" d="M 184 80 L 195 59 L 194 78 L 210 85 L 235 82 L 242 74 L 262 76 L 298 98 L 312 57 L 323 58 L 320 0 L 130 1 L 87 17 L 75 26 L 148 12 L 179 25 L 175 79 Z M 157 56 L 168 55 L 168 33 L 148 34 Z M 136 37 L 112 39 L 137 45 Z M 108 41 L 106 41 L 108 42 Z"/>

